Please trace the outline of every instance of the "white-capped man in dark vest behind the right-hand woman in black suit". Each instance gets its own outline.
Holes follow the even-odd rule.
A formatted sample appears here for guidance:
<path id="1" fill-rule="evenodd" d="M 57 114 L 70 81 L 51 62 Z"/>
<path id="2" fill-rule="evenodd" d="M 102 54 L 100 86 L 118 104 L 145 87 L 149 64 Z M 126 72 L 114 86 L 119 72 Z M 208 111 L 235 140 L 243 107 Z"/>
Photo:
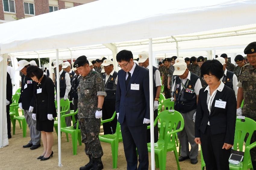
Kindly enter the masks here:
<path id="1" fill-rule="evenodd" d="M 237 98 L 238 80 L 237 80 L 236 74 L 226 69 L 227 64 L 225 62 L 225 58 L 218 57 L 216 58 L 216 60 L 220 61 L 220 63 L 223 65 L 223 70 L 224 70 L 224 76 L 220 79 L 220 81 L 222 81 L 224 85 L 228 86 L 229 88 L 232 88 L 235 91 L 235 95 Z"/>

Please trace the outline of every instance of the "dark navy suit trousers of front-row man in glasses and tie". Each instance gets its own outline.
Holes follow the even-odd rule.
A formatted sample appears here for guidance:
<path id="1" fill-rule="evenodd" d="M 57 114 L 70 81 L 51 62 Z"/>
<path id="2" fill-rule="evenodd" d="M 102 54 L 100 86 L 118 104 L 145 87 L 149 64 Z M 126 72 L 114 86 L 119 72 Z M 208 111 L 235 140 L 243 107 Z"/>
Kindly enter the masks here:
<path id="1" fill-rule="evenodd" d="M 124 120 L 120 125 L 127 170 L 137 170 L 136 148 L 139 154 L 138 169 L 148 170 L 147 124 L 128 126 Z"/>

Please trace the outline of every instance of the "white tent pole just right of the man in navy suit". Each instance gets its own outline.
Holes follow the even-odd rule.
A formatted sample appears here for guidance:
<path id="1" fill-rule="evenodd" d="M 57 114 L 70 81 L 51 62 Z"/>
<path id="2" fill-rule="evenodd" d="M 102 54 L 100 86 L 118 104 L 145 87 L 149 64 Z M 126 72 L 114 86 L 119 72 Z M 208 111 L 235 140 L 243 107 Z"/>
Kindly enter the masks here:
<path id="1" fill-rule="evenodd" d="M 155 170 L 155 149 L 154 149 L 154 103 L 153 103 L 153 53 L 152 53 L 152 38 L 148 39 L 148 54 L 149 54 L 149 104 L 150 104 L 150 147 L 151 147 L 151 170 Z"/>

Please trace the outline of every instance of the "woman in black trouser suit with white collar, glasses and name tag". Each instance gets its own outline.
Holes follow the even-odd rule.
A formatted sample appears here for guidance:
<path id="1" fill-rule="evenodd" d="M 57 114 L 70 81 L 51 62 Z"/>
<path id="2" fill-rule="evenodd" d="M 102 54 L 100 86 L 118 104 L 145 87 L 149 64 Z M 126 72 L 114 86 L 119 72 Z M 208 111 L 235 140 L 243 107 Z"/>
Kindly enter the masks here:
<path id="1" fill-rule="evenodd" d="M 236 126 L 235 92 L 220 81 L 224 71 L 219 61 L 205 61 L 201 75 L 208 86 L 198 96 L 195 142 L 201 144 L 207 170 L 229 170 Z"/>

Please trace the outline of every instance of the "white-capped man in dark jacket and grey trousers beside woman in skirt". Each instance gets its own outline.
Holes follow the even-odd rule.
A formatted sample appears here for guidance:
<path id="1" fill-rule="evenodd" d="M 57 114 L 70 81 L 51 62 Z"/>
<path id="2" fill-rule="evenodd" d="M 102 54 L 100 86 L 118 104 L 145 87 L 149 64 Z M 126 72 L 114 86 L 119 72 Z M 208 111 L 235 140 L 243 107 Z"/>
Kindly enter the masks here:
<path id="1" fill-rule="evenodd" d="M 41 132 L 36 130 L 36 121 L 32 118 L 35 101 L 33 88 L 36 86 L 36 82 L 27 76 L 27 67 L 29 66 L 28 61 L 20 60 L 18 61 L 19 68 L 16 71 L 23 73 L 21 76 L 19 107 L 24 110 L 24 117 L 30 130 L 30 141 L 23 148 L 34 150 L 41 146 Z"/>

